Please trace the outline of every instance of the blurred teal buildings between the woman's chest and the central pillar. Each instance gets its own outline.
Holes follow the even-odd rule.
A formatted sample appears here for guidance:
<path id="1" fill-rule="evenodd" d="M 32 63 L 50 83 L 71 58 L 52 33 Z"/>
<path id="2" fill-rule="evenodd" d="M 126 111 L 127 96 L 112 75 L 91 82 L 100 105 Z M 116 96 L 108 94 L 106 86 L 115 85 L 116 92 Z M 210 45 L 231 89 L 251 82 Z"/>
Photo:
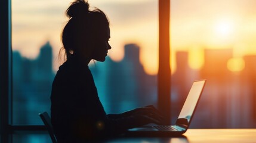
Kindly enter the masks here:
<path id="1" fill-rule="evenodd" d="M 122 61 L 109 57 L 104 63 L 91 65 L 98 95 L 107 113 L 120 113 L 156 103 L 156 76 L 146 74 L 140 63 L 140 48 L 135 44 L 124 47 Z"/>

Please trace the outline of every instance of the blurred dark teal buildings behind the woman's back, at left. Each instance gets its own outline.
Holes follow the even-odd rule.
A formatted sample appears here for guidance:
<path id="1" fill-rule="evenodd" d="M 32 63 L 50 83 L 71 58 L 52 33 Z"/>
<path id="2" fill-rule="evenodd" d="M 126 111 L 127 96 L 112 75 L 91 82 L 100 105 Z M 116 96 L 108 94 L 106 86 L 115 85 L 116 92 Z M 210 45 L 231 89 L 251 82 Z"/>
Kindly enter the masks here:
<path id="1" fill-rule="evenodd" d="M 13 123 L 41 124 L 38 113 L 50 112 L 53 82 L 53 48 L 49 42 L 40 49 L 36 59 L 13 52 Z"/>

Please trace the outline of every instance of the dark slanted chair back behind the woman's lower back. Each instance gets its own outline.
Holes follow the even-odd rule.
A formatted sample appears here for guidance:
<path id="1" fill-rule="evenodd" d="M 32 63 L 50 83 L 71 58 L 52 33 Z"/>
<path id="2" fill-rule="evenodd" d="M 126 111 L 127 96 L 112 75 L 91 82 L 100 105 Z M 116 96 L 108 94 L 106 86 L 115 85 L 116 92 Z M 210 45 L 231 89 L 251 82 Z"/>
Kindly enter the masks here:
<path id="1" fill-rule="evenodd" d="M 47 128 L 49 135 L 51 136 L 51 141 L 53 141 L 53 143 L 57 143 L 57 139 L 53 132 L 53 125 L 51 125 L 51 118 L 49 114 L 47 112 L 44 112 L 39 113 L 39 116 L 41 117 L 42 122 L 44 122 L 44 125 Z"/>

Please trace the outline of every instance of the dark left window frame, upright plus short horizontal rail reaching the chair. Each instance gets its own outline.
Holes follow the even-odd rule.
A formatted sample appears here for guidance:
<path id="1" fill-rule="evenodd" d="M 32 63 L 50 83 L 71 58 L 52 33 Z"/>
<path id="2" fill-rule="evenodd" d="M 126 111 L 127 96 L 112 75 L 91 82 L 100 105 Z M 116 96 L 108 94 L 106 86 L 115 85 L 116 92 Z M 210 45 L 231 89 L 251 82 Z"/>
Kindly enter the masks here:
<path id="1" fill-rule="evenodd" d="M 12 49 L 11 0 L 0 1 L 0 133 L 1 142 L 11 142 L 11 134 L 19 130 L 46 130 L 44 125 L 12 124 Z M 4 21 L 4 22 L 3 22 Z"/>

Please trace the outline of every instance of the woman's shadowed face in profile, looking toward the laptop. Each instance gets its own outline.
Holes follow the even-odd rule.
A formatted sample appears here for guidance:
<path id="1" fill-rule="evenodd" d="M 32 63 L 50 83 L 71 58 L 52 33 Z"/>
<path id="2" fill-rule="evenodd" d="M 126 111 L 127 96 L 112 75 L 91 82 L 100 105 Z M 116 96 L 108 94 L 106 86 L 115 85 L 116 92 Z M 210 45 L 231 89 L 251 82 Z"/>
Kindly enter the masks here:
<path id="1" fill-rule="evenodd" d="M 106 26 L 100 35 L 98 35 L 97 40 L 95 41 L 94 50 L 92 52 L 92 59 L 97 61 L 105 61 L 107 56 L 107 51 L 111 49 L 109 45 L 110 39 L 110 29 L 109 26 Z"/>

